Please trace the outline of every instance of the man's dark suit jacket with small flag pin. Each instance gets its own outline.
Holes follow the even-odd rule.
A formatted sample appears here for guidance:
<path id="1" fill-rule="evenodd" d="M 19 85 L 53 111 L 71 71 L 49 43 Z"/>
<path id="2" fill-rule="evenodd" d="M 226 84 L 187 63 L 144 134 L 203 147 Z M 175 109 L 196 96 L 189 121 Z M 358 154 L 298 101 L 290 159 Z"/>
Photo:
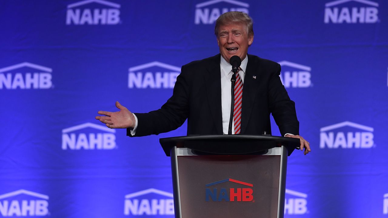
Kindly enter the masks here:
<path id="1" fill-rule="evenodd" d="M 186 119 L 187 135 L 221 135 L 221 55 L 182 66 L 173 95 L 156 111 L 136 113 L 135 136 L 175 130 Z M 242 91 L 241 134 L 271 133 L 270 113 L 282 135 L 299 135 L 295 104 L 281 83 L 280 65 L 248 55 Z M 127 135 L 130 135 L 129 129 Z"/>

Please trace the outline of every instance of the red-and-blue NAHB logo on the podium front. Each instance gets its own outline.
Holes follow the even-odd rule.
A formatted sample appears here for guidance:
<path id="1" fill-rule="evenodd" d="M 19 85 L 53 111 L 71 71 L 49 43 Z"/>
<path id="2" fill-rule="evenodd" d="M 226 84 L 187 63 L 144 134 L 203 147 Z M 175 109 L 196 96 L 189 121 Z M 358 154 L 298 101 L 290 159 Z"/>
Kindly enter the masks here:
<path id="1" fill-rule="evenodd" d="M 220 180 L 206 184 L 205 187 L 210 187 L 224 182 L 234 182 L 248 187 L 253 187 L 253 184 L 247 182 L 241 182 L 231 178 Z M 253 189 L 252 188 L 206 188 L 205 189 L 205 201 L 252 201 Z"/>

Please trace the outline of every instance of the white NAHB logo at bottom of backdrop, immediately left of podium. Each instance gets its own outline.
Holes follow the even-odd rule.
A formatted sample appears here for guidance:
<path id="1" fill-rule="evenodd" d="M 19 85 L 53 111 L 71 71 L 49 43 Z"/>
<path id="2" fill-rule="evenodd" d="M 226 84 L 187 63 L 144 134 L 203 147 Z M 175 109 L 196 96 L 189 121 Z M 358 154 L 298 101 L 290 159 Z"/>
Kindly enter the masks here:
<path id="1" fill-rule="evenodd" d="M 127 194 L 124 201 L 124 215 L 164 215 L 174 217 L 174 199 L 170 192 L 146 189 Z"/>

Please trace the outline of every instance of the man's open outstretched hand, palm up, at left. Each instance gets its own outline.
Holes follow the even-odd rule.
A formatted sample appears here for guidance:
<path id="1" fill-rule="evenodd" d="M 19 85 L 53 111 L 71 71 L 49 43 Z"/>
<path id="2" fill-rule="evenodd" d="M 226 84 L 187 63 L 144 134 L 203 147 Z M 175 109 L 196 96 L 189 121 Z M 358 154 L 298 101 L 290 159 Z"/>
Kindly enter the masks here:
<path id="1" fill-rule="evenodd" d="M 105 116 L 96 116 L 96 119 L 105 123 L 109 128 L 135 128 L 135 116 L 118 101 L 116 101 L 116 107 L 120 111 L 99 111 L 98 114 Z"/>

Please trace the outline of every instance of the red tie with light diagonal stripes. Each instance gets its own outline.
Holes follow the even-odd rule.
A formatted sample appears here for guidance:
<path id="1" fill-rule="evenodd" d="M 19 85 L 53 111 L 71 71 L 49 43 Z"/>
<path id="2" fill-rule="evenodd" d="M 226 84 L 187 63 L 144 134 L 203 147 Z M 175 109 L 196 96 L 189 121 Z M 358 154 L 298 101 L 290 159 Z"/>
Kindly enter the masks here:
<path id="1" fill-rule="evenodd" d="M 234 134 L 240 134 L 241 131 L 241 108 L 242 108 L 242 80 L 239 75 L 240 67 L 236 72 L 236 83 L 234 84 Z"/>

